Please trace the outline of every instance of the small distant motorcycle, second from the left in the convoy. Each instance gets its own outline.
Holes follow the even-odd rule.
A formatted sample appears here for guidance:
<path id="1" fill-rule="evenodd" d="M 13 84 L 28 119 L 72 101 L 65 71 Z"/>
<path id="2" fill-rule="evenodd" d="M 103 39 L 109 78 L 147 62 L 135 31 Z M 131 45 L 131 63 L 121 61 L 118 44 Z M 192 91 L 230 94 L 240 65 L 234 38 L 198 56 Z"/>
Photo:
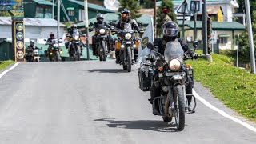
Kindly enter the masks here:
<path id="1" fill-rule="evenodd" d="M 50 62 L 62 61 L 62 58 L 61 58 L 62 49 L 58 46 L 58 43 L 62 43 L 61 40 L 62 40 L 62 38 L 53 39 L 52 43 L 49 45 L 48 50 L 45 51 Z M 44 39 L 44 41 L 47 41 L 47 39 Z"/>

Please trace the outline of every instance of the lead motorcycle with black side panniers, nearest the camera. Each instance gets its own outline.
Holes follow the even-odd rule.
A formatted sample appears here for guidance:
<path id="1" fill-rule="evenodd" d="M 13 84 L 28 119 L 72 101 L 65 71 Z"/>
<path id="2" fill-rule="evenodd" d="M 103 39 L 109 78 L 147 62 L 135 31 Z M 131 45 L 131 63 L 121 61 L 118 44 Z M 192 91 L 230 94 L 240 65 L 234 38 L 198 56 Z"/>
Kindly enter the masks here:
<path id="1" fill-rule="evenodd" d="M 150 42 L 147 43 L 147 47 L 151 50 L 154 49 Z M 189 79 L 192 79 L 192 83 L 194 80 L 192 66 L 183 62 L 186 59 L 190 59 L 189 54 L 183 52 L 179 42 L 173 41 L 167 42 L 164 56 L 157 53 L 154 60 L 146 58 L 147 62 L 141 64 L 151 69 L 150 72 L 153 76 L 150 78 L 150 85 L 161 87 L 161 95 L 153 100 L 153 114 L 162 116 L 164 122 L 171 122 L 174 117 L 177 130 L 183 130 L 185 127 L 185 114 L 188 110 L 187 98 L 194 99 L 194 107 L 190 113 L 194 113 L 196 107 L 194 95 L 186 94 Z M 145 80 L 146 77 L 139 74 L 140 85 L 143 85 Z"/>

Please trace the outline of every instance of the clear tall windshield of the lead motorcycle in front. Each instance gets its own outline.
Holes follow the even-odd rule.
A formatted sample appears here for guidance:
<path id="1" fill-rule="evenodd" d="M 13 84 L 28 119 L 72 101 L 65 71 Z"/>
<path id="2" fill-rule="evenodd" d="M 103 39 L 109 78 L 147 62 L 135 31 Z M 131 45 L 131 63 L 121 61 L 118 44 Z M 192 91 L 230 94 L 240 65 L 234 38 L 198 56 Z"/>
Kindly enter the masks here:
<path id="1" fill-rule="evenodd" d="M 166 62 L 170 62 L 173 58 L 178 58 L 183 62 L 184 51 L 181 44 L 178 41 L 167 42 L 165 50 Z"/>

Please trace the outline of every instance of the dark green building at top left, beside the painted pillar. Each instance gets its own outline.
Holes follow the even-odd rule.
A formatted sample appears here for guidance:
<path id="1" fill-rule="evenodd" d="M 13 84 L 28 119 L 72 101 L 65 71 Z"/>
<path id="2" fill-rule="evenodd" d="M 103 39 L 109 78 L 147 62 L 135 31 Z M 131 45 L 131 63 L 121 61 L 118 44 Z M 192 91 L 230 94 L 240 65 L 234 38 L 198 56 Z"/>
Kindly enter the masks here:
<path id="1" fill-rule="evenodd" d="M 52 18 L 53 3 L 50 0 L 24 0 L 23 2 L 25 18 Z"/>

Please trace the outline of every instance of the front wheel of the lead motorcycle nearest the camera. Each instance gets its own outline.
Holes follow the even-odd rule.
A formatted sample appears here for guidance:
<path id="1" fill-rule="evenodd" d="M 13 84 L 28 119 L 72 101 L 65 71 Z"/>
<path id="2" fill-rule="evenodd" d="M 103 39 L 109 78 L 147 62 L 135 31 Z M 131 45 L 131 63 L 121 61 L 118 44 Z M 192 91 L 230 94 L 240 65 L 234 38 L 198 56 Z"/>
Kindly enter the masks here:
<path id="1" fill-rule="evenodd" d="M 174 87 L 175 122 L 178 130 L 185 127 L 185 99 L 181 85 Z"/>

